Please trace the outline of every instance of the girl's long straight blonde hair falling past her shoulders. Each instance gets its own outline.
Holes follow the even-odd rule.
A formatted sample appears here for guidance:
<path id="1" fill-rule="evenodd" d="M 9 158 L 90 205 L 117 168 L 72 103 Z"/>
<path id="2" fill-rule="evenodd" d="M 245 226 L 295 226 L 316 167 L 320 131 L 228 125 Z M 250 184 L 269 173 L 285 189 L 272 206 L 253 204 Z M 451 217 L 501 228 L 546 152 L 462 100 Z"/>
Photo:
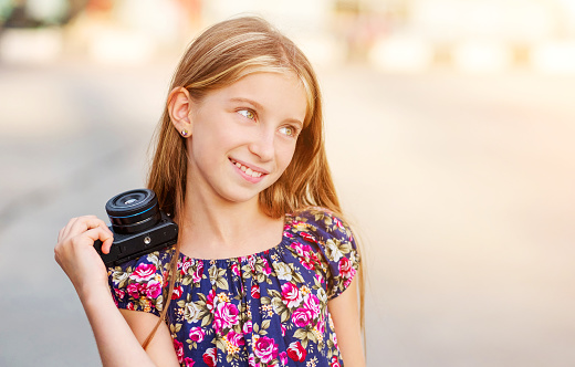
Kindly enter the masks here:
<path id="1" fill-rule="evenodd" d="M 238 18 L 217 23 L 188 48 L 174 74 L 170 91 L 184 86 L 195 101 L 209 92 L 233 84 L 259 72 L 295 73 L 307 95 L 304 127 L 297 138 L 292 161 L 280 179 L 260 192 L 261 209 L 272 218 L 309 206 L 327 208 L 341 214 L 327 165 L 323 137 L 322 97 L 310 61 L 286 36 L 260 18 Z M 160 208 L 180 224 L 186 197 L 187 149 L 168 114 L 169 96 L 156 130 L 156 149 L 147 187 L 158 197 Z M 170 285 L 160 321 L 166 317 L 174 290 L 179 245 L 170 264 Z M 362 271 L 360 289 L 362 286 Z M 363 298 L 363 291 L 360 292 Z M 362 324 L 363 324 L 363 302 Z M 154 336 L 150 333 L 144 347 Z"/>

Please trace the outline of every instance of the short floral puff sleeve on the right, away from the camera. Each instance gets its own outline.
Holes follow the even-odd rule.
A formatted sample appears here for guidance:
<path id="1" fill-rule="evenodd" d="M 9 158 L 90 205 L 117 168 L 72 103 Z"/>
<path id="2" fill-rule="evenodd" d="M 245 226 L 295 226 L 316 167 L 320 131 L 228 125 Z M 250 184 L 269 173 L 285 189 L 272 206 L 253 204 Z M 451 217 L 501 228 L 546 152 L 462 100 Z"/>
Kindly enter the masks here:
<path id="1" fill-rule="evenodd" d="M 326 209 L 314 208 L 299 214 L 305 221 L 300 235 L 315 243 L 326 262 L 326 293 L 332 300 L 352 283 L 359 269 L 359 253 L 347 223 Z"/>

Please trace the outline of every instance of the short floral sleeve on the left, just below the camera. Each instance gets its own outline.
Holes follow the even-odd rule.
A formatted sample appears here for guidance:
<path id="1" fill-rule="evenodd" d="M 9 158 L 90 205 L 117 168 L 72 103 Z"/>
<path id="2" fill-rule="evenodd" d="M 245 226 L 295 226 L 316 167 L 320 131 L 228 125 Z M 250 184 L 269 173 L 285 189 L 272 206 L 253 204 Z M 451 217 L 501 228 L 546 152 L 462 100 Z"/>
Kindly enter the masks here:
<path id="1" fill-rule="evenodd" d="M 108 283 L 116 306 L 159 316 L 167 283 L 164 273 L 158 252 L 108 268 Z"/>

